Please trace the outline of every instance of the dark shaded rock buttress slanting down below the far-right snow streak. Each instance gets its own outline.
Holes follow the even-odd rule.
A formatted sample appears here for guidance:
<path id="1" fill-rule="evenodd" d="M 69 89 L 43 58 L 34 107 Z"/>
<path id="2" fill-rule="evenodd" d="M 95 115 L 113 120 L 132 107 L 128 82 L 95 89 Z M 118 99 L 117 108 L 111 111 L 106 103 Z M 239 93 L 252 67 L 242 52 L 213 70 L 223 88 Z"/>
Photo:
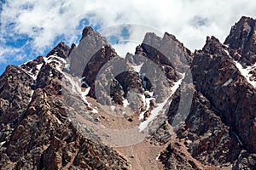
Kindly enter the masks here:
<path id="1" fill-rule="evenodd" d="M 214 38 L 207 43 L 212 41 L 219 43 Z M 214 51 L 221 46 L 220 43 L 218 46 L 213 44 L 205 47 Z M 256 138 L 253 133 L 256 129 L 253 118 L 256 91 L 241 76 L 233 61 L 223 54 L 209 54 L 209 50 L 203 50 L 195 54 L 191 68 L 196 90 L 209 99 L 216 114 L 238 134 L 247 150 L 255 148 L 252 141 Z"/>

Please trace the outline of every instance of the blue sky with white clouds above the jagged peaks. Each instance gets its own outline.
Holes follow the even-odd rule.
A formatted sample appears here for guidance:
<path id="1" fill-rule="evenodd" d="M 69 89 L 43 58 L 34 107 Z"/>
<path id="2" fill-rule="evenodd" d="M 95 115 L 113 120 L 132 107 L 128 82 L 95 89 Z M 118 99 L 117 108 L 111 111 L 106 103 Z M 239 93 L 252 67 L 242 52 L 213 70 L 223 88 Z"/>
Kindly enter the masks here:
<path id="1" fill-rule="evenodd" d="M 255 19 L 256 1 L 0 0 L 0 75 L 7 65 L 48 54 L 58 42 L 78 44 L 84 26 L 106 37 L 121 26 L 108 38 L 120 55 L 134 53 L 147 31 L 167 31 L 194 52 L 207 36 L 224 42 L 242 15 Z"/>

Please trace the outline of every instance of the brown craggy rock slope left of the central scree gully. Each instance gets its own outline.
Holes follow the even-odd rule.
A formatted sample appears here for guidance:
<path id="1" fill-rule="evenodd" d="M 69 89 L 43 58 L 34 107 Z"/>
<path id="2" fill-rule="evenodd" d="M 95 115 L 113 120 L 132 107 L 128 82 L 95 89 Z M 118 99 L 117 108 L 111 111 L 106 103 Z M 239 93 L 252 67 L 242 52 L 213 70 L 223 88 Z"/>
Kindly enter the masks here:
<path id="1" fill-rule="evenodd" d="M 127 169 L 115 150 L 86 139 L 68 121 L 59 70 L 69 48 L 63 47 L 48 58 L 10 65 L 1 76 L 0 168 Z"/>

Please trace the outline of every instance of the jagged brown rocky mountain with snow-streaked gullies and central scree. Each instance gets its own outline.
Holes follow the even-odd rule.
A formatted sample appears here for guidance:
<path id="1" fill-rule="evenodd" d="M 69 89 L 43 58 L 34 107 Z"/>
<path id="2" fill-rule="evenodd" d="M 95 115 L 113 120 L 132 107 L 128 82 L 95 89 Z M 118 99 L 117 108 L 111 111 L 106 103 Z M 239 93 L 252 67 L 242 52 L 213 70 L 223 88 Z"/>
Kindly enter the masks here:
<path id="1" fill-rule="evenodd" d="M 0 77 L 1 169 L 256 169 L 256 20 L 191 52 L 148 32 L 119 57 L 79 45 Z"/>

